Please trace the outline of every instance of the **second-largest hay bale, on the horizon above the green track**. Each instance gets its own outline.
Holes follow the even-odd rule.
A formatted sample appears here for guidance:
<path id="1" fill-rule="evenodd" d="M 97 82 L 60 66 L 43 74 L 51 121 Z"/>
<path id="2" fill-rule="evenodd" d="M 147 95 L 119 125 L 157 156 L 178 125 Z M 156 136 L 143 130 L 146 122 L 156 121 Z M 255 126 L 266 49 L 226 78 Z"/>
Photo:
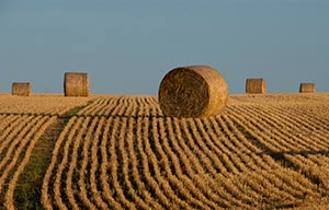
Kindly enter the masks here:
<path id="1" fill-rule="evenodd" d="M 66 72 L 64 79 L 65 96 L 88 97 L 90 94 L 90 83 L 88 73 Z"/>

